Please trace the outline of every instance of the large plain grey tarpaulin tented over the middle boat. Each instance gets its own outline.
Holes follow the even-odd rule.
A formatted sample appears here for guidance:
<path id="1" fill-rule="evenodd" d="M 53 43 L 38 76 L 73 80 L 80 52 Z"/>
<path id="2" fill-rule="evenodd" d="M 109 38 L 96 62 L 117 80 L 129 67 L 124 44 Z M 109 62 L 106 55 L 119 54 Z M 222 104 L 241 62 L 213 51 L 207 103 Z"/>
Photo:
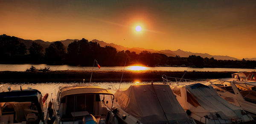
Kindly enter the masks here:
<path id="1" fill-rule="evenodd" d="M 169 85 L 131 85 L 114 96 L 125 112 L 144 124 L 192 124 Z"/>

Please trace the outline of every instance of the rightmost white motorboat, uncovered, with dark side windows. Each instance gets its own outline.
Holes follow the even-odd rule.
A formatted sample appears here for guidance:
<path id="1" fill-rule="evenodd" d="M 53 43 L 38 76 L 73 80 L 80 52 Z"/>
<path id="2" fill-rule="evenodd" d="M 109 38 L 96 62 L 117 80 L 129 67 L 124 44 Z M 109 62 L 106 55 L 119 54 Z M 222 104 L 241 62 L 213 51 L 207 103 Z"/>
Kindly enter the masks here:
<path id="1" fill-rule="evenodd" d="M 255 81 L 239 81 L 236 78 L 226 78 L 211 80 L 206 85 L 212 86 L 223 99 L 241 107 L 253 118 L 256 118 Z"/>

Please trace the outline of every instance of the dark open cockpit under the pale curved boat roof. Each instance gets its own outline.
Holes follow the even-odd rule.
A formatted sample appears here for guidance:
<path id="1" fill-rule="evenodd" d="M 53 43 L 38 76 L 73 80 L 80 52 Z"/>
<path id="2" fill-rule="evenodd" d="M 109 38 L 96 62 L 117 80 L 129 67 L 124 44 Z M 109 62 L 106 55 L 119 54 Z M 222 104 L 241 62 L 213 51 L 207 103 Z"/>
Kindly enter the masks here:
<path id="1" fill-rule="evenodd" d="M 61 98 L 61 104 L 58 113 L 62 121 L 81 120 L 86 115 L 93 115 L 97 118 L 106 118 L 108 115 L 105 105 L 105 96 L 102 94 L 74 94 Z M 113 97 L 113 96 L 112 96 Z M 112 101 L 109 101 L 112 102 Z"/>

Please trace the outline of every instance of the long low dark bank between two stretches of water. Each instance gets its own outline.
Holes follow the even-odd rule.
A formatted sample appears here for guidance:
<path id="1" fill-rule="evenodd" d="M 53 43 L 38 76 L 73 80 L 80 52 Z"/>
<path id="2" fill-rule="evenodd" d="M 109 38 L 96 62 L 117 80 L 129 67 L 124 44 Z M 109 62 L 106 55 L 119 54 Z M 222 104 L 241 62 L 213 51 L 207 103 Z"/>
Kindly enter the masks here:
<path id="1" fill-rule="evenodd" d="M 161 82 L 162 76 L 181 78 L 184 71 L 125 71 L 123 82 Z M 188 71 L 184 79 L 230 78 L 233 71 L 209 72 Z M 37 83 L 37 82 L 89 82 L 91 71 L 58 70 L 49 72 L 0 71 L 0 83 Z M 91 82 L 120 82 L 122 71 L 94 71 Z"/>

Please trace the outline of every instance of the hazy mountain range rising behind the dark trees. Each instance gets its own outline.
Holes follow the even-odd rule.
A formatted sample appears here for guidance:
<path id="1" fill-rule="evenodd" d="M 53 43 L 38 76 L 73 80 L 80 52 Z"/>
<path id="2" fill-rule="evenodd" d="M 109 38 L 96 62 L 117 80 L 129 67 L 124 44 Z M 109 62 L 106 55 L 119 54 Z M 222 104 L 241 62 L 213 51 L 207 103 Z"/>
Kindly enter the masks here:
<path id="1" fill-rule="evenodd" d="M 20 39 L 21 42 L 23 42 L 27 48 L 29 48 L 31 45 L 32 45 L 32 42 L 37 42 L 38 44 L 41 44 L 44 48 L 47 48 L 51 42 L 49 41 L 43 41 L 41 39 L 37 39 L 37 40 L 30 40 L 30 39 L 21 39 L 21 38 L 18 38 Z M 77 40 L 78 39 L 66 39 L 66 40 L 60 40 L 60 42 L 62 42 L 64 44 L 64 46 L 67 48 L 67 46 L 73 42 L 74 40 Z M 166 56 L 180 56 L 180 57 L 188 57 L 189 55 L 196 55 L 196 56 L 201 56 L 203 58 L 207 57 L 207 58 L 214 58 L 214 59 L 218 59 L 218 60 L 241 60 L 241 59 L 237 59 L 237 58 L 234 58 L 234 57 L 230 57 L 230 56 L 218 56 L 218 55 L 210 55 L 210 54 L 207 54 L 207 53 L 192 53 L 192 52 L 189 52 L 189 51 L 183 51 L 183 50 L 180 50 L 178 49 L 177 51 L 171 51 L 171 50 L 160 50 L 160 51 L 157 51 L 157 50 L 154 50 L 154 49 L 145 49 L 145 48 L 128 48 L 128 47 L 124 47 L 122 45 L 116 45 L 114 43 L 107 43 L 107 42 L 104 42 L 104 41 L 99 41 L 97 39 L 93 39 L 91 42 L 97 42 L 99 43 L 100 46 L 104 47 L 106 45 L 109 45 L 109 46 L 112 46 L 114 48 L 116 48 L 117 51 L 126 51 L 126 50 L 129 50 L 129 51 L 134 51 L 136 52 L 136 54 L 140 54 L 141 51 L 150 51 L 151 53 L 159 53 L 159 54 L 165 54 Z M 256 58 L 245 58 L 245 60 L 256 60 Z"/>

